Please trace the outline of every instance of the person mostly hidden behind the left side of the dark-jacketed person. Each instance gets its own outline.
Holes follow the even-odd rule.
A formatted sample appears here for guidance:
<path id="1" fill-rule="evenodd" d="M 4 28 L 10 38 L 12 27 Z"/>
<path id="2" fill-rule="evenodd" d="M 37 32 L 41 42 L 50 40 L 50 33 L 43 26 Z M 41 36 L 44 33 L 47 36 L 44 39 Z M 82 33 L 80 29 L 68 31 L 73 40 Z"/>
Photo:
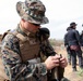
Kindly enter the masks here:
<path id="1" fill-rule="evenodd" d="M 71 28 L 68 27 L 67 31 L 69 31 Z M 71 51 L 70 51 L 70 46 L 68 44 L 68 39 L 67 39 L 68 32 L 64 35 L 64 46 L 67 49 L 67 53 L 68 53 L 68 63 L 69 65 L 71 65 Z"/>

